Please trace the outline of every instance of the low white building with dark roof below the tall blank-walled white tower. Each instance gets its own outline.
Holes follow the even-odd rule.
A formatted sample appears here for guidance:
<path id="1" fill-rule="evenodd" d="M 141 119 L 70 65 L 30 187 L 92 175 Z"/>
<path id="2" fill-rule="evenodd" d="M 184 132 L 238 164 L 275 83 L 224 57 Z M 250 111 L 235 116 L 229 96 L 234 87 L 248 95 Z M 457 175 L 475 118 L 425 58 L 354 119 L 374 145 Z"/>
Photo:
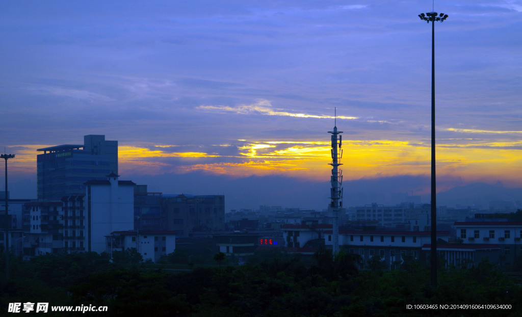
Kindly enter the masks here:
<path id="1" fill-rule="evenodd" d="M 176 250 L 176 234 L 173 231 L 115 231 L 105 237 L 106 252 L 136 249 L 144 261 L 156 263 L 161 256 Z"/>

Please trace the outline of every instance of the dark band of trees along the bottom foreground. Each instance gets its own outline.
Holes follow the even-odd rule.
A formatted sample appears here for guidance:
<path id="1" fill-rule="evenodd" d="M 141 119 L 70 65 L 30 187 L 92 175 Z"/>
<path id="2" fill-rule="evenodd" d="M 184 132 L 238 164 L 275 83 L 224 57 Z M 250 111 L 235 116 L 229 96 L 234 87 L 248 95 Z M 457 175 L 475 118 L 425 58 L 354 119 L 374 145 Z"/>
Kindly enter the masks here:
<path id="1" fill-rule="evenodd" d="M 0 277 L 0 315 L 9 315 L 8 304 L 13 302 L 109 308 L 86 312 L 89 316 L 522 315 L 520 281 L 488 262 L 440 272 L 438 287 L 433 289 L 429 269 L 421 263 L 395 271 L 378 266 L 360 271 L 357 255 L 333 256 L 329 250 L 308 260 L 260 253 L 253 257 L 254 263 L 196 265 L 182 273 L 161 265 L 109 260 L 108 255 L 96 253 L 48 254 L 29 262 L 12 258 L 10 279 L 5 274 Z M 4 257 L 0 265 L 5 272 Z M 419 310 L 407 309 L 408 304 L 503 304 L 511 309 Z"/>

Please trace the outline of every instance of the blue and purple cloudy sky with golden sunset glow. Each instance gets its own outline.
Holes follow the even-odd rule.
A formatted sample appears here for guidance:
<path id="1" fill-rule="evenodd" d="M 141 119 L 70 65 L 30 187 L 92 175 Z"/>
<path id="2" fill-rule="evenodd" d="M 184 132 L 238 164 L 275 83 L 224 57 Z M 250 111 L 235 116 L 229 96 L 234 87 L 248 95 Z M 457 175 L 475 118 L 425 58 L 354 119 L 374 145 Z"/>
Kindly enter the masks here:
<path id="1" fill-rule="evenodd" d="M 449 16 L 437 191 L 522 187 L 522 1 L 16 1 L 0 4 L 11 197 L 36 196 L 36 149 L 103 134 L 149 191 L 326 207 L 334 125 L 347 197 L 425 195 L 432 10 Z"/>

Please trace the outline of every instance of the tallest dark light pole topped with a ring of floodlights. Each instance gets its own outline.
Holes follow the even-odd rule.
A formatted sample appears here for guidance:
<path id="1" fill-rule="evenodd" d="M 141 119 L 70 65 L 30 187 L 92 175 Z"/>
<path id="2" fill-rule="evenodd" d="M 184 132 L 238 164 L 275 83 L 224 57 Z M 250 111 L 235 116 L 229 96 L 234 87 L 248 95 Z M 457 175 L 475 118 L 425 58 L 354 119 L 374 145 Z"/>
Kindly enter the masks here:
<path id="1" fill-rule="evenodd" d="M 435 181 L 435 21 L 443 22 L 448 15 L 421 13 L 421 20 L 431 23 L 431 285 L 437 286 L 437 194 Z"/>

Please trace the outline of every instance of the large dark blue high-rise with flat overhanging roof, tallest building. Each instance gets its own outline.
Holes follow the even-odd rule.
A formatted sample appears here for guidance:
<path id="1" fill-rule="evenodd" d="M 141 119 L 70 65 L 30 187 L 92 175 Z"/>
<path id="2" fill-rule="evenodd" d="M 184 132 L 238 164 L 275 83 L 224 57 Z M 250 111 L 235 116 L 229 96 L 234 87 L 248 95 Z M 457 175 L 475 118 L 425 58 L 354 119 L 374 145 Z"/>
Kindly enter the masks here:
<path id="1" fill-rule="evenodd" d="M 38 199 L 60 201 L 62 197 L 85 193 L 84 183 L 103 180 L 118 172 L 118 142 L 104 135 L 86 135 L 84 144 L 64 144 L 38 149 Z"/>

